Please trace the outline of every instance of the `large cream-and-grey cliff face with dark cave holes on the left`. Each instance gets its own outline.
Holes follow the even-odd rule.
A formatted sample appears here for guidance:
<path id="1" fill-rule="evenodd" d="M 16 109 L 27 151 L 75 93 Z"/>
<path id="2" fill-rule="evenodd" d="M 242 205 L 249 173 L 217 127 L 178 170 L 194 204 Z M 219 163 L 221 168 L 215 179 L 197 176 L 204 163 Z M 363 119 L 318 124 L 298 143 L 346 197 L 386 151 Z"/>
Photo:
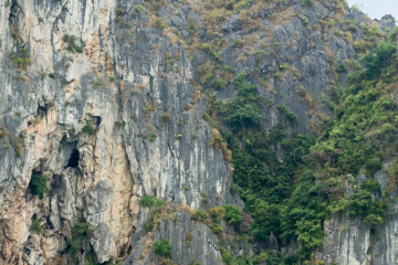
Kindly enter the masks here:
<path id="1" fill-rule="evenodd" d="M 1 22 L 10 21 L 0 41 L 1 125 L 10 135 L 2 135 L 0 152 L 6 264 L 51 261 L 82 221 L 94 227 L 100 263 L 123 259 L 146 221 L 145 194 L 192 209 L 201 191 L 209 206 L 240 203 L 229 193 L 230 166 L 209 146 L 211 128 L 201 118 L 206 105 L 190 82 L 187 52 L 150 26 L 137 25 L 134 47 L 121 42 L 125 31 L 133 33 L 116 25 L 116 4 L 1 3 Z M 31 63 L 18 67 L 10 54 L 22 49 Z M 171 65 L 167 52 L 179 57 Z M 36 174 L 48 179 L 43 200 L 27 192 Z M 32 218 L 43 234 L 30 231 Z M 202 230 L 192 225 L 192 234 Z M 212 241 L 205 232 L 201 240 Z"/>

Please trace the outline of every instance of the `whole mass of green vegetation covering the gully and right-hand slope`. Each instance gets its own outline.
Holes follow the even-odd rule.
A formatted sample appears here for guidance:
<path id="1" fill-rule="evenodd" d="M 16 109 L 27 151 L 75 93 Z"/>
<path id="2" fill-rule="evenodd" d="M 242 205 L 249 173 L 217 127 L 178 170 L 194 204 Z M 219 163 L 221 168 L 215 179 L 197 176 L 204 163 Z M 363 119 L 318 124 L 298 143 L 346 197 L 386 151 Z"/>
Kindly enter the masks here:
<path id="1" fill-rule="evenodd" d="M 275 107 L 279 125 L 265 131 L 260 115 L 262 99 L 245 74 L 234 78 L 235 99 L 223 104 L 208 96 L 209 114 L 205 118 L 220 131 L 213 134 L 211 145 L 224 153 L 223 142 L 228 142 L 234 169 L 232 189 L 255 220 L 247 234 L 263 242 L 274 234 L 281 246 L 301 243 L 295 256 L 261 253 L 238 264 L 259 258 L 270 264 L 310 262 L 311 253 L 323 246 L 324 221 L 347 210 L 350 219 L 363 219 L 373 230 L 384 222 L 388 200 L 380 195 L 397 187 L 397 163 L 390 167 L 384 191 L 374 174 L 386 159 L 395 159 L 398 150 L 396 38 L 394 31 L 366 54 L 359 61 L 363 68 L 349 76 L 346 87 L 332 87 L 328 105 L 334 119 L 317 139 L 287 132 L 296 116 L 285 106 Z M 359 173 L 366 176 L 360 186 Z M 346 194 L 345 183 L 354 188 L 350 195 Z M 208 216 L 198 211 L 193 218 Z M 241 222 L 227 214 L 224 218 Z M 227 262 L 229 254 L 223 256 Z"/>

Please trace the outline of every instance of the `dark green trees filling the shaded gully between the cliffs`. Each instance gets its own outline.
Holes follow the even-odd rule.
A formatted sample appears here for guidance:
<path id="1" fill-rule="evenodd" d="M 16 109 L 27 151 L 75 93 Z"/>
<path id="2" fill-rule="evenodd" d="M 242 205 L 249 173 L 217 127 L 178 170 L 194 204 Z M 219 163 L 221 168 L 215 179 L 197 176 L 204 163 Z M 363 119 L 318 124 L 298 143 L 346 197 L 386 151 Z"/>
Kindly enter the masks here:
<path id="1" fill-rule="evenodd" d="M 229 104 L 209 98 L 209 113 L 217 114 L 229 125 L 230 130 L 220 132 L 232 150 L 234 172 L 231 188 L 243 199 L 245 211 L 255 219 L 251 233 L 260 241 L 268 241 L 271 233 L 286 243 L 300 237 L 308 255 L 311 250 L 322 245 L 322 224 L 328 215 L 325 202 L 331 200 L 326 190 L 335 191 L 333 195 L 337 195 L 341 184 L 331 181 L 317 187 L 313 173 L 306 181 L 297 181 L 296 170 L 305 166 L 303 158 L 310 153 L 314 137 L 286 134 L 286 127 L 296 116 L 284 105 L 276 107 L 280 124 L 265 131 L 261 126 L 261 97 L 255 85 L 247 82 L 247 75 L 239 74 L 234 87 L 237 98 Z M 276 148 L 283 152 L 282 158 L 277 157 Z M 226 205 L 223 210 L 228 222 L 241 222 L 238 208 Z M 211 229 L 222 233 L 217 222 L 222 214 L 216 212 L 214 209 L 209 211 L 213 221 Z"/>

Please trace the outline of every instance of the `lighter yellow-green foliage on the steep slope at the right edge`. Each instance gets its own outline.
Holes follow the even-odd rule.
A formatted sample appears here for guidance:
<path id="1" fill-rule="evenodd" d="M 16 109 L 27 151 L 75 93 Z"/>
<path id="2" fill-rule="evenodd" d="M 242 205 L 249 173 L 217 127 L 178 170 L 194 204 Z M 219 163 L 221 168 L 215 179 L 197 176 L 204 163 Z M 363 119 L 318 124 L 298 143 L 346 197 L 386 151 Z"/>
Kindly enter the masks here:
<path id="1" fill-rule="evenodd" d="M 390 84 L 396 82 L 396 51 L 395 42 L 381 42 L 363 57 L 365 68 L 353 73 L 349 85 L 334 94 L 333 127 L 313 148 L 318 166 L 326 163 L 332 176 L 356 174 L 365 166 L 370 177 L 394 150 L 398 112 L 390 104 Z"/>

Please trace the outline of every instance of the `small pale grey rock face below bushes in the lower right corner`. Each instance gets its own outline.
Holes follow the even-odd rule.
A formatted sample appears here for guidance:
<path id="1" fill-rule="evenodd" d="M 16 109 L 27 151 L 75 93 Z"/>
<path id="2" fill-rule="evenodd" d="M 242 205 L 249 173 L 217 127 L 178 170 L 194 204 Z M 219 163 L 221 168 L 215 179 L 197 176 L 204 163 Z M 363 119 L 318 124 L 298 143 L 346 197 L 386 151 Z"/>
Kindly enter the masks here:
<path id="1" fill-rule="evenodd" d="M 375 179 L 383 190 L 386 187 L 387 172 L 378 171 Z M 380 197 L 380 193 L 376 191 L 373 195 Z M 392 197 L 396 195 L 395 192 Z M 349 220 L 348 214 L 334 216 L 324 225 L 323 259 L 326 264 L 342 265 L 396 264 L 398 262 L 397 219 L 396 205 L 391 216 L 376 227 L 366 225 L 359 220 Z"/>

